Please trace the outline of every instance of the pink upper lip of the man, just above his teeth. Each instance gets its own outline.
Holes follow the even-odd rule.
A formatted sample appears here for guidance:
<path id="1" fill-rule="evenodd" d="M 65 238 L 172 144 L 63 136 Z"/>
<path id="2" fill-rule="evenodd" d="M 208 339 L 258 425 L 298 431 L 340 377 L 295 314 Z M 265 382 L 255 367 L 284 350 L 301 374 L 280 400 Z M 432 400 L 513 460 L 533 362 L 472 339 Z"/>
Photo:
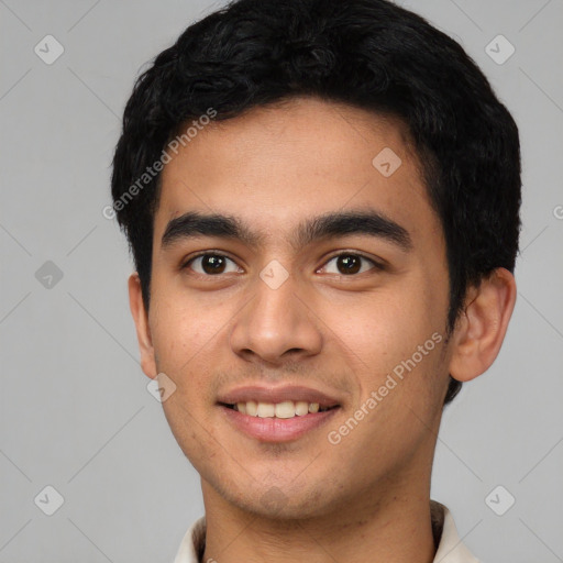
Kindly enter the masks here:
<path id="1" fill-rule="evenodd" d="M 318 389 L 302 385 L 284 385 L 266 387 L 261 385 L 245 385 L 231 389 L 219 397 L 218 402 L 235 405 L 236 402 L 283 402 L 285 400 L 318 402 L 320 407 L 334 407 L 339 400 Z"/>

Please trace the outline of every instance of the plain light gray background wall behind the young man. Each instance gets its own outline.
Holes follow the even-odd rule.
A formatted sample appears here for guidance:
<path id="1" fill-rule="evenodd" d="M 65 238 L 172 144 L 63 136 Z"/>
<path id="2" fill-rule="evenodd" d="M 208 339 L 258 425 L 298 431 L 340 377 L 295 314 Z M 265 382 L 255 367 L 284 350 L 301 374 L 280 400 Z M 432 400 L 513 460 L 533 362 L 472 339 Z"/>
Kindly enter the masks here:
<path id="1" fill-rule="evenodd" d="M 563 561 L 563 1 L 402 4 L 477 62 L 523 154 L 512 322 L 445 411 L 432 497 L 485 562 Z M 0 0 L 0 563 L 170 562 L 202 514 L 198 475 L 146 389 L 132 264 L 101 210 L 134 78 L 219 5 Z M 65 49 L 51 65 L 34 52 L 47 34 Z M 498 34 L 516 47 L 504 64 L 486 51 Z M 52 494 L 34 503 L 47 485 L 64 497 L 53 516 L 38 508 Z"/>

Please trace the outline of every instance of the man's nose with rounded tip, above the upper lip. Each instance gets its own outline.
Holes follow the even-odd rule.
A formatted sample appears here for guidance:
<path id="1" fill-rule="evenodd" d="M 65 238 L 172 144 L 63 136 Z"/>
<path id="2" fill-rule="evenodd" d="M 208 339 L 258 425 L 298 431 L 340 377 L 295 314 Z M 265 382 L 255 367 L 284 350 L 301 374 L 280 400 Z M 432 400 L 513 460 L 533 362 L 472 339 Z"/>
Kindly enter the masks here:
<path id="1" fill-rule="evenodd" d="M 231 330 L 233 352 L 247 361 L 269 364 L 318 354 L 322 346 L 321 321 L 305 289 L 292 275 L 279 287 L 257 276 L 249 287 L 253 296 Z"/>

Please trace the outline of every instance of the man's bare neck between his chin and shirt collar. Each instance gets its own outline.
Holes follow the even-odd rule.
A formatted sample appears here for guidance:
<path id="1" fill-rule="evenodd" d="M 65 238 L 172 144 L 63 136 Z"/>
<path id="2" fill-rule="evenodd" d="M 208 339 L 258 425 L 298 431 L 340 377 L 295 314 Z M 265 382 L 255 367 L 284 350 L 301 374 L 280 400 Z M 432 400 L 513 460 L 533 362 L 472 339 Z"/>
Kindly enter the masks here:
<path id="1" fill-rule="evenodd" d="M 430 563 L 434 558 L 429 484 L 422 492 L 364 490 L 346 508 L 294 520 L 241 510 L 202 485 L 203 562 Z"/>

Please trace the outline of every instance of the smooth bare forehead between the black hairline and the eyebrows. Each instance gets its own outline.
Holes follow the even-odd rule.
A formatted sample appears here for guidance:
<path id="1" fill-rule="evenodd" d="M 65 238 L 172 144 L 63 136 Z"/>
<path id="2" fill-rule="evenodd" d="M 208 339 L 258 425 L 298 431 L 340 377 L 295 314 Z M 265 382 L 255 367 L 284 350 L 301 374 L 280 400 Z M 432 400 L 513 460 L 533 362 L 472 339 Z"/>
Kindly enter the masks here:
<path id="1" fill-rule="evenodd" d="M 261 240 L 285 238 L 305 218 L 372 209 L 397 223 L 438 225 L 396 119 L 297 98 L 200 125 L 162 173 L 155 240 L 187 211 L 229 214 Z"/>

